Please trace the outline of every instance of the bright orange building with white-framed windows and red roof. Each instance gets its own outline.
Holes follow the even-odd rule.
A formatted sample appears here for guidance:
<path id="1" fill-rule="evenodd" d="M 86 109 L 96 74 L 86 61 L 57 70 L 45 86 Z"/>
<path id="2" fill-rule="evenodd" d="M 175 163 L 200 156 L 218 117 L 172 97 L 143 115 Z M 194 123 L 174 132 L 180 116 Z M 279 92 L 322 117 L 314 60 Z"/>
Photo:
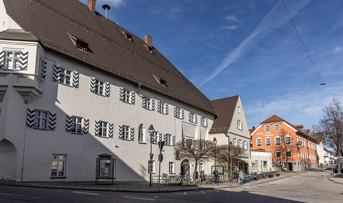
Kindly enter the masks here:
<path id="1" fill-rule="evenodd" d="M 286 135 L 281 135 L 280 130 L 285 129 Z M 281 137 L 284 141 L 281 141 Z M 301 143 L 300 143 L 301 142 Z M 294 151 L 282 154 L 277 148 L 281 144 L 297 145 Z M 288 167 L 290 171 L 302 171 L 318 167 L 317 162 L 317 140 L 307 135 L 303 126 L 294 126 L 282 118 L 273 115 L 263 121 L 251 133 L 252 150 L 264 149 L 272 152 L 273 170 L 280 167 L 287 168 L 286 155 L 288 156 Z"/>

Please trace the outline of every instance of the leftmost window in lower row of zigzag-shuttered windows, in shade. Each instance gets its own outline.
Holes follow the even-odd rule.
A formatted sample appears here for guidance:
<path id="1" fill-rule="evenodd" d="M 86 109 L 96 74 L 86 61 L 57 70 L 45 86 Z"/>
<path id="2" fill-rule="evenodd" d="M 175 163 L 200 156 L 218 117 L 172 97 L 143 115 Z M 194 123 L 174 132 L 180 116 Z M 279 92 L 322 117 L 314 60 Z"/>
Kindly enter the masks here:
<path id="1" fill-rule="evenodd" d="M 54 130 L 56 128 L 56 113 L 28 108 L 26 127 Z"/>

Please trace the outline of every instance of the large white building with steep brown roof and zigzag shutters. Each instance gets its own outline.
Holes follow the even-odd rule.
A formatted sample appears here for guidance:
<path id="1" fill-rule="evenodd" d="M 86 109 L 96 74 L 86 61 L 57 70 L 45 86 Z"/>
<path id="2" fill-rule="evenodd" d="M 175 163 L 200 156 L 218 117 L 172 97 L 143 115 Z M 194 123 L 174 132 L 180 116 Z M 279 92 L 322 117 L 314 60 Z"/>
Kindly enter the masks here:
<path id="1" fill-rule="evenodd" d="M 0 178 L 94 181 L 107 153 L 117 181 L 147 181 L 150 125 L 152 174 L 157 141 L 161 174 L 193 172 L 173 145 L 209 139 L 217 113 L 151 37 L 105 19 L 95 0 L 0 0 L 0 16 Z"/>

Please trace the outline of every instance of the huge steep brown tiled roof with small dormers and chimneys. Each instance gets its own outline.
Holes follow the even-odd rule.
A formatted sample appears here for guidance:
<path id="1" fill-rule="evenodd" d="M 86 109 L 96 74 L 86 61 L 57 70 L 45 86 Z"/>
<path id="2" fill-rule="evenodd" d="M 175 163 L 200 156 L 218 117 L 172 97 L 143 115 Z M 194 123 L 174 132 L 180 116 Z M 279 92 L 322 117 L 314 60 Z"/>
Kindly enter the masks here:
<path id="1" fill-rule="evenodd" d="M 7 14 L 36 36 L 46 49 L 131 83 L 142 83 L 143 88 L 216 115 L 210 100 L 156 48 L 152 47 L 150 53 L 143 40 L 97 12 L 93 14 L 80 1 L 3 0 L 3 3 Z M 123 32 L 132 36 L 132 41 Z M 87 52 L 78 50 L 67 33 L 87 43 Z M 167 87 L 161 86 L 151 73 L 163 78 Z"/>

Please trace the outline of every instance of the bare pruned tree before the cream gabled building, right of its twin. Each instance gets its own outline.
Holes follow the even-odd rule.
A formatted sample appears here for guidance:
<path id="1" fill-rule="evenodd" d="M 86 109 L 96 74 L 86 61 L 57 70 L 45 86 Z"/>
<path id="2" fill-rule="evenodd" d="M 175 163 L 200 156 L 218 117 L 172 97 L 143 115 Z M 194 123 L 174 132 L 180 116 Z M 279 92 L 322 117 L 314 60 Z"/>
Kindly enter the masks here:
<path id="1" fill-rule="evenodd" d="M 223 170 L 227 172 L 227 177 L 229 177 L 231 171 L 230 171 L 230 164 L 231 164 L 231 158 L 232 161 L 238 161 L 245 157 L 245 152 L 241 147 L 234 146 L 234 145 L 218 145 L 216 146 L 216 151 L 212 153 L 214 158 L 214 154 L 216 154 L 216 159 L 218 165 L 223 166 Z"/>

